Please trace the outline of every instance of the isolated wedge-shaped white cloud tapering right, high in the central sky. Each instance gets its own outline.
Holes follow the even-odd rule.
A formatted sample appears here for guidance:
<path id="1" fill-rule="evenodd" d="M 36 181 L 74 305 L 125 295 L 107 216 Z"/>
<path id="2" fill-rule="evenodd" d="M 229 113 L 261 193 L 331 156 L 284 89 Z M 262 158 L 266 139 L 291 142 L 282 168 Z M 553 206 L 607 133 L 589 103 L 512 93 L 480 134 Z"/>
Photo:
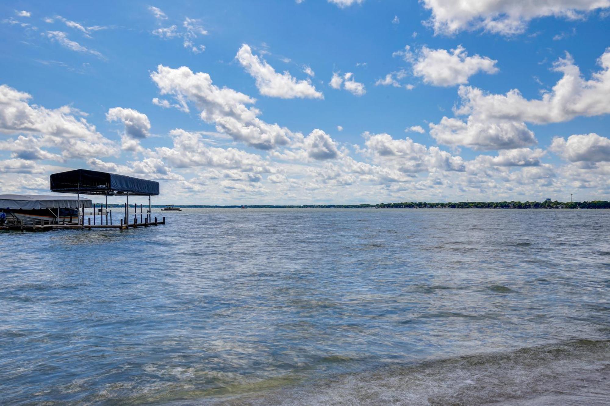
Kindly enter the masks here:
<path id="1" fill-rule="evenodd" d="M 250 76 L 256 79 L 256 87 L 260 94 L 282 99 L 324 98 L 323 94 L 315 90 L 309 80 L 296 80 L 287 71 L 283 74 L 277 73 L 267 61 L 260 60 L 259 57 L 253 55 L 252 50 L 246 44 L 242 45 L 235 58 L 239 60 Z"/>

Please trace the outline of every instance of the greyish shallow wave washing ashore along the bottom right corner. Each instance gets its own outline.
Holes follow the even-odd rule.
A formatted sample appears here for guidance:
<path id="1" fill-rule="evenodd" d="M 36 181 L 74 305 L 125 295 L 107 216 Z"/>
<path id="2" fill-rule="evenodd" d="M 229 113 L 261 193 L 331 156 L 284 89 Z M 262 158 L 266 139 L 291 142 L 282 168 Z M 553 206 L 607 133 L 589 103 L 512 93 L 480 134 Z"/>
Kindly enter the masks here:
<path id="1" fill-rule="evenodd" d="M 610 340 L 578 340 L 171 405 L 602 405 L 610 399 L 609 378 Z"/>

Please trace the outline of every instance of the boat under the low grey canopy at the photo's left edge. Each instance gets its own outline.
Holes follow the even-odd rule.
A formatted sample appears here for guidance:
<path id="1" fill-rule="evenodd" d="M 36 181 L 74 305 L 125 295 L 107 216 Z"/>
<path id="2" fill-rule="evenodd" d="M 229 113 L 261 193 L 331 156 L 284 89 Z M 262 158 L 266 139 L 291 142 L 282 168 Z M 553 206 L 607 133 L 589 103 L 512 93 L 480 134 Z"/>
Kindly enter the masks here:
<path id="1" fill-rule="evenodd" d="M 24 226 L 77 223 L 81 208 L 91 207 L 91 199 L 77 196 L 40 194 L 0 194 L 0 211 L 19 219 Z"/>

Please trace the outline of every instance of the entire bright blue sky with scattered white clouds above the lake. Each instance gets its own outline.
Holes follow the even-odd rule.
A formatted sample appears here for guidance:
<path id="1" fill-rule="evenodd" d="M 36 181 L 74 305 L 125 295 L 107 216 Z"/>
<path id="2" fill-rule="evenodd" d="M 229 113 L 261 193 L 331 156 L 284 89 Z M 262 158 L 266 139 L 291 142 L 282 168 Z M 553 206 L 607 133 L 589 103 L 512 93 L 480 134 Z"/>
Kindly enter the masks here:
<path id="1" fill-rule="evenodd" d="M 610 0 L 0 4 L 2 193 L 610 199 Z"/>

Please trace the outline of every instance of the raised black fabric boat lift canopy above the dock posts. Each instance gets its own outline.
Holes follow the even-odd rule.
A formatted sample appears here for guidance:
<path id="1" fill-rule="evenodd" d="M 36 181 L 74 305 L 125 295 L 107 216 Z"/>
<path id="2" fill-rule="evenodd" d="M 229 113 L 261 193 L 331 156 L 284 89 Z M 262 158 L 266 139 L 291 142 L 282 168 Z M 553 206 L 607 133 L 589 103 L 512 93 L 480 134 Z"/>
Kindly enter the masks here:
<path id="1" fill-rule="evenodd" d="M 115 173 L 74 169 L 52 174 L 51 191 L 102 196 L 157 196 L 159 182 Z"/>

